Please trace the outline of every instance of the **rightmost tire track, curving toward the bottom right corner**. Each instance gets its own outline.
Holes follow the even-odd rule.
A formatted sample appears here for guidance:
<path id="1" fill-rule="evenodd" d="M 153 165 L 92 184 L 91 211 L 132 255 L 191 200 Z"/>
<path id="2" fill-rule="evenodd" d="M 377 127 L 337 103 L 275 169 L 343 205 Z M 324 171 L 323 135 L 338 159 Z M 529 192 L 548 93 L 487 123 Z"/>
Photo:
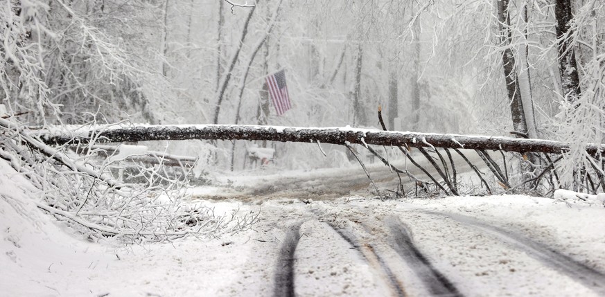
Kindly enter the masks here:
<path id="1" fill-rule="evenodd" d="M 530 255 L 532 258 L 549 267 L 552 267 L 556 271 L 565 274 L 572 280 L 576 280 L 585 287 L 592 289 L 597 294 L 605 296 L 605 287 L 603 285 L 605 273 L 590 268 L 586 266 L 586 264 L 578 262 L 568 255 L 563 255 L 562 253 L 559 253 L 545 244 L 535 242 L 524 235 L 506 231 L 498 226 L 493 226 L 487 224 L 486 222 L 482 222 L 479 219 L 474 219 L 465 215 L 439 213 L 434 211 L 423 211 L 423 213 L 448 217 L 462 224 L 472 226 L 473 228 L 486 234 L 497 237 L 498 239 L 525 251 L 525 253 Z"/>

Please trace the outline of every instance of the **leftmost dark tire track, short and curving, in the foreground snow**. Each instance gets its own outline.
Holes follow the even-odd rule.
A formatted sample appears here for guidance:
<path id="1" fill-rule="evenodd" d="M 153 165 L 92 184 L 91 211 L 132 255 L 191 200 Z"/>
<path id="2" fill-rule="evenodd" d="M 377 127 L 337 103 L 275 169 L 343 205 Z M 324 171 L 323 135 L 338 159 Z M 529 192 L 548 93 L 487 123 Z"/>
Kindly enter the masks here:
<path id="1" fill-rule="evenodd" d="M 286 239 L 281 244 L 277 267 L 275 268 L 273 296 L 293 297 L 294 294 L 294 262 L 296 247 L 300 240 L 300 226 L 303 222 L 298 222 L 290 226 Z"/>

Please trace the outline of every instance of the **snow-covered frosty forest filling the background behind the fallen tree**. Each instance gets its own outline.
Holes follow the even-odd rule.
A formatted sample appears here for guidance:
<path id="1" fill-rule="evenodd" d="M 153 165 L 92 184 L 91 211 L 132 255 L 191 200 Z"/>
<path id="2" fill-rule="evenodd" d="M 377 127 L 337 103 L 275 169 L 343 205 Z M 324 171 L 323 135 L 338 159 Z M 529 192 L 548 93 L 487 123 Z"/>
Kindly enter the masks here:
<path id="1" fill-rule="evenodd" d="M 432 182 L 446 194 L 457 194 L 456 174 L 450 181 L 447 161 L 435 147 L 466 145 L 449 134 L 525 141 L 525 148 L 472 147 L 513 152 L 502 153 L 503 164 L 478 152 L 502 190 L 519 190 L 528 181 L 533 190 L 543 187 L 541 195 L 558 188 L 605 190 L 602 1 L 3 3 L 0 157 L 46 193 L 39 208 L 100 233 L 159 236 L 154 222 L 166 214 L 152 201 L 137 200 L 151 204 L 145 209 L 155 215 L 132 222 L 130 231 L 116 231 L 122 226 L 110 215 L 78 214 L 100 211 L 100 205 L 121 209 L 143 193 L 179 192 L 191 172 L 203 182 L 211 172 L 252 169 L 251 152 L 269 152 L 272 166 L 288 170 L 337 168 L 355 158 L 361 163 L 351 143 L 368 147 L 359 134 L 363 129 L 418 133 L 418 145 L 412 145 L 416 136 L 370 144 L 398 146 L 399 157 L 412 163 L 410 147 L 419 147 L 441 177 Z M 275 105 L 268 87 L 276 73 L 283 73 L 278 84 L 288 86 L 286 110 Z M 137 139 L 107 138 L 111 127 L 132 132 L 168 125 L 225 130 L 201 138 L 158 138 L 155 130 Z M 281 143 L 274 136 L 249 138 L 244 130 L 234 132 L 244 132 L 236 137 L 227 133 L 229 125 L 344 127 L 357 136 L 322 145 L 312 134 L 288 141 L 316 144 Z M 393 133 L 384 135 L 399 137 Z M 448 139 L 433 146 L 424 138 L 430 134 Z M 137 152 L 134 144 L 151 140 Z M 126 156 L 120 158 L 107 142 L 131 147 L 124 146 L 120 154 Z M 538 143 L 547 148 L 536 149 Z M 435 156 L 422 147 L 432 147 Z M 128 152 L 142 163 L 121 164 Z M 437 155 L 444 172 L 432 161 Z M 507 161 L 518 173 L 516 181 L 509 182 L 509 172 L 499 168 L 507 171 Z M 182 166 L 190 170 L 182 173 L 154 166 L 170 162 L 197 165 Z M 132 179 L 125 181 L 124 174 Z M 116 200 L 108 204 L 107 195 Z M 125 197 L 130 199 L 116 202 Z M 184 235 L 183 228 L 172 226 L 163 235 Z"/>

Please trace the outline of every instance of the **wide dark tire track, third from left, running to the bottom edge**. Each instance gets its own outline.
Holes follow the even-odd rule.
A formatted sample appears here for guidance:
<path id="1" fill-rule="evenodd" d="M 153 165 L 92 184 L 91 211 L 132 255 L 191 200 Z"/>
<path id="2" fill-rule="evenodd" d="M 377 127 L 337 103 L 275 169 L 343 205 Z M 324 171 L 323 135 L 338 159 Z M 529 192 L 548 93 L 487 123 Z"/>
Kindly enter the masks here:
<path id="1" fill-rule="evenodd" d="M 433 296 L 463 296 L 455 285 L 414 246 L 409 229 L 399 219 L 389 217 L 386 220 L 394 240 L 394 249 L 399 256 L 414 269 L 414 272 L 426 285 Z"/>

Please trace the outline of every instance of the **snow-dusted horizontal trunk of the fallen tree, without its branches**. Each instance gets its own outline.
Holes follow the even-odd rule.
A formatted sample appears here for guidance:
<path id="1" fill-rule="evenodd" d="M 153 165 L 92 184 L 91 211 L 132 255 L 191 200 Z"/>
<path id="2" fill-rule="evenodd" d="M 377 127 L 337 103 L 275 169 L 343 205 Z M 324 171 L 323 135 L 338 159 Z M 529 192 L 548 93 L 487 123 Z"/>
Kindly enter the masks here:
<path id="1" fill-rule="evenodd" d="M 188 139 L 218 139 L 247 141 L 281 141 L 299 143 L 358 143 L 361 145 L 396 145 L 408 147 L 444 147 L 468 150 L 502 150 L 505 152 L 544 152 L 560 154 L 569 150 L 568 143 L 542 139 L 509 138 L 500 136 L 468 136 L 417 132 L 391 132 L 378 129 L 351 127 L 305 128 L 256 125 L 132 125 L 130 127 L 103 127 L 82 131 L 42 134 L 50 144 L 88 143 L 91 135 L 98 143 L 125 141 L 182 141 Z M 605 145 L 589 144 L 588 154 L 604 152 Z"/>

